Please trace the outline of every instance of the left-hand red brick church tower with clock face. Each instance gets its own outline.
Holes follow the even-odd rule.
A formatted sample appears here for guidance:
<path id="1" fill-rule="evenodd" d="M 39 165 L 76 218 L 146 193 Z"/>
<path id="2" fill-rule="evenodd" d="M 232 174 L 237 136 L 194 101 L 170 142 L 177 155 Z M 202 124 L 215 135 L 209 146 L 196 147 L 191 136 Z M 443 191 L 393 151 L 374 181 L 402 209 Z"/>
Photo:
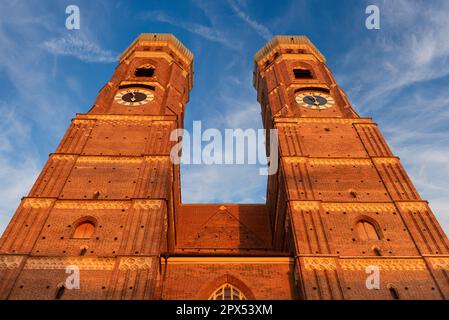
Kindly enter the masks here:
<path id="1" fill-rule="evenodd" d="M 179 197 L 169 136 L 183 122 L 192 60 L 163 34 L 143 34 L 122 54 L 7 227 L 0 298 L 160 297 Z M 63 288 L 68 265 L 79 267 L 79 290 Z"/>

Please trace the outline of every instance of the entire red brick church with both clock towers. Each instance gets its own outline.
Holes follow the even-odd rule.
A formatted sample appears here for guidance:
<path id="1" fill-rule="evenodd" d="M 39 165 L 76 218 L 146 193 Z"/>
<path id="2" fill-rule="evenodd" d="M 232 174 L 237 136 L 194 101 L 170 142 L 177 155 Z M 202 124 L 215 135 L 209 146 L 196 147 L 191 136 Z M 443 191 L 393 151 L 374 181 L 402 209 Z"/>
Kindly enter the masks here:
<path id="1" fill-rule="evenodd" d="M 266 204 L 181 203 L 192 85 L 174 36 L 125 50 L 4 232 L 0 299 L 449 299 L 447 237 L 306 37 L 255 55 L 279 138 Z"/>

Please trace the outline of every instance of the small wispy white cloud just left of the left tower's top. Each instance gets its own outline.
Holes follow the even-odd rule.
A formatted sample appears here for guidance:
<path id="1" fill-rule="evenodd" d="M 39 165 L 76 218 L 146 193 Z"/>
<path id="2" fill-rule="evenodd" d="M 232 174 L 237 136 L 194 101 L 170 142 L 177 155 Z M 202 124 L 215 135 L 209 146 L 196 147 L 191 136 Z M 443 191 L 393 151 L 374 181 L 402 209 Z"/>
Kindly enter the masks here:
<path id="1" fill-rule="evenodd" d="M 117 53 L 73 34 L 45 41 L 43 47 L 55 55 L 71 56 L 85 62 L 114 63 L 119 57 Z"/>

